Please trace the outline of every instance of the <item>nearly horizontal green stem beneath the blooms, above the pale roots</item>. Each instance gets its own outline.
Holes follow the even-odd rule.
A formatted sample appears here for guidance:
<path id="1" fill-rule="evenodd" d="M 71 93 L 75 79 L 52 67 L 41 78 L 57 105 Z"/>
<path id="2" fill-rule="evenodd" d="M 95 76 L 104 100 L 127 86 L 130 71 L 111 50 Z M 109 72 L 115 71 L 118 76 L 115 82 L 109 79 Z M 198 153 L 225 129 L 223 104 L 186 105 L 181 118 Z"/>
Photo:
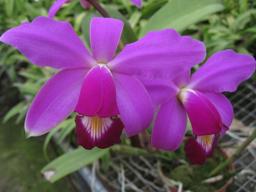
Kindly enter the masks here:
<path id="1" fill-rule="evenodd" d="M 148 153 L 147 150 L 132 147 L 128 145 L 119 145 L 115 144 L 111 147 L 111 150 L 117 154 L 124 156 L 148 156 L 148 157 L 159 157 L 161 159 L 170 160 L 170 157 L 167 157 L 160 153 Z"/>

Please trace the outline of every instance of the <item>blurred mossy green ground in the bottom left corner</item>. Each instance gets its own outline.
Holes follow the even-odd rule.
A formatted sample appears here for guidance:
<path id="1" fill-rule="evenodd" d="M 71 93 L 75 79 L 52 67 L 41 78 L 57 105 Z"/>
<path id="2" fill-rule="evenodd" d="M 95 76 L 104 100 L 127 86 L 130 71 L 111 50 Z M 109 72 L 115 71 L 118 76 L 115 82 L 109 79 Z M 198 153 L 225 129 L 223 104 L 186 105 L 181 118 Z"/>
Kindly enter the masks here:
<path id="1" fill-rule="evenodd" d="M 0 191 L 74 191 L 67 178 L 50 183 L 41 175 L 43 136 L 26 139 L 24 126 L 10 120 L 0 124 L 0 141 Z"/>

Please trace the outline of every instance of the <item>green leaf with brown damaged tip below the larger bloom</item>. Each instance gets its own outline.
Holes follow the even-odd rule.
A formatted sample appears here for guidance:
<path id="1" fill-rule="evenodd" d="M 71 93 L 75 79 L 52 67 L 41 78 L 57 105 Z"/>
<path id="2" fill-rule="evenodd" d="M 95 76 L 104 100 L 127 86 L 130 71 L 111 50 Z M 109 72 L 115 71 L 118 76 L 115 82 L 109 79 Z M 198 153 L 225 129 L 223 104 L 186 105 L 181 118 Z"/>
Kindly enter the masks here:
<path id="1" fill-rule="evenodd" d="M 80 168 L 93 163 L 108 153 L 109 148 L 99 149 L 94 147 L 91 150 L 86 150 L 78 147 L 69 153 L 65 153 L 57 157 L 52 162 L 48 163 L 41 173 L 50 182 L 55 182 L 58 179 L 79 170 Z"/>

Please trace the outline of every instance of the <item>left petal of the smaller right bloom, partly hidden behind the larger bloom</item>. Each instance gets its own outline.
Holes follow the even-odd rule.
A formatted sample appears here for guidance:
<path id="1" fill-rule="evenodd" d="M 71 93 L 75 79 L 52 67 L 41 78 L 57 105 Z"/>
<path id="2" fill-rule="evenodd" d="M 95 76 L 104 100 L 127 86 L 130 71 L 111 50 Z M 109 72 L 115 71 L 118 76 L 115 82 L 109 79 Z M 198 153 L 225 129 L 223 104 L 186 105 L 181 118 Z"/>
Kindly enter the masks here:
<path id="1" fill-rule="evenodd" d="M 155 113 L 157 106 L 167 103 L 171 98 L 179 94 L 179 88 L 172 81 L 149 80 L 141 77 L 137 78 L 147 89 Z"/>

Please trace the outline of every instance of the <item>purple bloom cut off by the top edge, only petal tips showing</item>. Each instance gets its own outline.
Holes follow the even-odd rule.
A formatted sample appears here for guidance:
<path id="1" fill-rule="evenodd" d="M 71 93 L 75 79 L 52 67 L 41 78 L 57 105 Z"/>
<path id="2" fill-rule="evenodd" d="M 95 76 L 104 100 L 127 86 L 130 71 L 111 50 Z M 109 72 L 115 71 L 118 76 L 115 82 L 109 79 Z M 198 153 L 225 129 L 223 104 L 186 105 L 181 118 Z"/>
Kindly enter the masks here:
<path id="1" fill-rule="evenodd" d="M 35 0 L 35 1 L 39 1 L 39 0 Z M 49 12 L 48 12 L 48 17 L 53 18 L 54 15 L 58 12 L 58 10 L 61 8 L 61 6 L 64 3 L 68 3 L 70 1 L 75 1 L 75 0 L 57 0 L 52 7 L 50 7 Z M 134 5 L 136 5 L 137 7 L 141 8 L 142 7 L 142 0 L 130 0 Z M 89 10 L 91 7 L 91 4 L 86 1 L 86 0 L 79 0 L 81 6 L 86 9 Z"/>

